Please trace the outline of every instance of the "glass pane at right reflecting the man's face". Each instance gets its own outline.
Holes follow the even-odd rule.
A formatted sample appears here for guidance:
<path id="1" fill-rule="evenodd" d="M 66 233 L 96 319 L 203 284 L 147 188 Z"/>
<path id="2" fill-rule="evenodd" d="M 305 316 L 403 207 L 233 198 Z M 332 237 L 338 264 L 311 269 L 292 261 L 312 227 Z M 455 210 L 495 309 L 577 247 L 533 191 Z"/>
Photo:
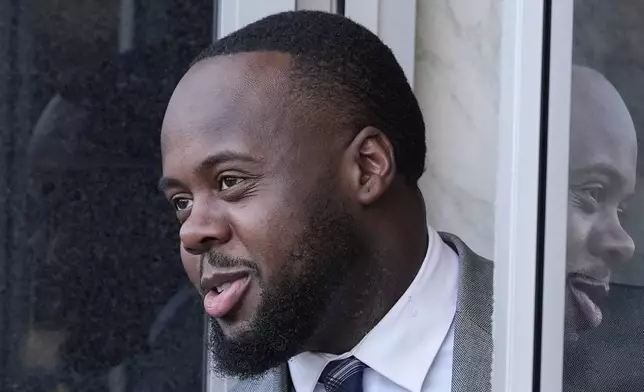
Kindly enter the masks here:
<path id="1" fill-rule="evenodd" d="M 577 0 L 564 390 L 644 390 L 644 6 Z"/>

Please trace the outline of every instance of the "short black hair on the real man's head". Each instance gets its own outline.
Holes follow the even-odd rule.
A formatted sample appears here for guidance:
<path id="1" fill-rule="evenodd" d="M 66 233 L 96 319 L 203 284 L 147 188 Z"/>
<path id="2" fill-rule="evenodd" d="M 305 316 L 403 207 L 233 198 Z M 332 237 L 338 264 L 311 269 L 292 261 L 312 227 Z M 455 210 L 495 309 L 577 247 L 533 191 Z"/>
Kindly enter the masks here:
<path id="1" fill-rule="evenodd" d="M 404 71 L 378 36 L 340 15 L 282 12 L 219 39 L 192 64 L 266 51 L 289 54 L 291 80 L 314 95 L 323 89 L 326 97 L 344 100 L 340 105 L 349 103 L 356 133 L 366 126 L 380 129 L 393 145 L 398 172 L 417 184 L 427 151 L 423 115 Z"/>

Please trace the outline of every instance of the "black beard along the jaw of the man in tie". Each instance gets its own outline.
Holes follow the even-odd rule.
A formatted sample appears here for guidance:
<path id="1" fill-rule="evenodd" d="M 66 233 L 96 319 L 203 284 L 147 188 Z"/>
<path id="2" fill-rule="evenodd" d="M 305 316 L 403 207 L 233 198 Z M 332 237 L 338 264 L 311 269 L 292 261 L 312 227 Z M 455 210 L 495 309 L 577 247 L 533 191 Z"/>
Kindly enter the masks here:
<path id="1" fill-rule="evenodd" d="M 246 332 L 233 340 L 216 320 L 210 320 L 215 373 L 251 378 L 305 351 L 327 315 L 346 311 L 344 287 L 351 284 L 351 276 L 360 274 L 366 255 L 365 243 L 341 203 L 317 203 L 307 229 L 274 275 L 279 282 L 263 287 Z"/>

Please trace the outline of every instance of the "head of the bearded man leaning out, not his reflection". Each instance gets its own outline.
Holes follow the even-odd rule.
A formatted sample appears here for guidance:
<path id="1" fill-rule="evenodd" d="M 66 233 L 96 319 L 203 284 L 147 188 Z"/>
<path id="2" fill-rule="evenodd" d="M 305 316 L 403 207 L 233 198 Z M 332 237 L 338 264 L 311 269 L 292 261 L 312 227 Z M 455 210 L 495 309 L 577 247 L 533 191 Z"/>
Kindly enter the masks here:
<path id="1" fill-rule="evenodd" d="M 419 197 L 425 150 L 393 54 L 343 17 L 273 15 L 195 60 L 166 112 L 160 187 L 221 372 L 261 373 L 377 311 L 383 233 L 417 218 L 391 211 Z"/>

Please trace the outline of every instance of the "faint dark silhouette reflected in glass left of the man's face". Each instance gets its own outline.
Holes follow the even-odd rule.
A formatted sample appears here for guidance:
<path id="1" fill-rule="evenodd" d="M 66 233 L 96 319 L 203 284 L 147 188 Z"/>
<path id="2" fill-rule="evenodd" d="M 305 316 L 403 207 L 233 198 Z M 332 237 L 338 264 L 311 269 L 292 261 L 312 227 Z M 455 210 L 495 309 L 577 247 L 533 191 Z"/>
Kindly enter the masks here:
<path id="1" fill-rule="evenodd" d="M 174 55 L 140 49 L 74 72 L 35 128 L 22 355 L 34 390 L 201 385 L 201 301 L 172 262 L 176 226 L 156 196 L 158 130 L 186 61 Z"/>

